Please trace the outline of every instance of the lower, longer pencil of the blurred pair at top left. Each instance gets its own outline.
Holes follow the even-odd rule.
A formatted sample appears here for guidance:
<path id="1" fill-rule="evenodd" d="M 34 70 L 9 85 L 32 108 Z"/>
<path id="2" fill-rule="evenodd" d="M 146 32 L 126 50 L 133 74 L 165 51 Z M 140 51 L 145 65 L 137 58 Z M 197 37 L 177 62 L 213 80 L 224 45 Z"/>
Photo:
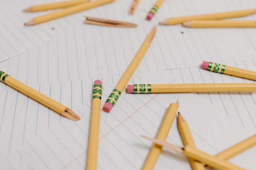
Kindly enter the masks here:
<path id="1" fill-rule="evenodd" d="M 53 13 L 35 17 L 35 18 L 31 19 L 30 21 L 26 22 L 25 26 L 30 26 L 30 25 L 35 25 L 35 24 L 39 24 L 42 22 L 50 21 L 50 20 L 53 20 L 56 18 L 60 18 L 60 17 L 66 16 L 66 15 L 76 13 L 76 12 L 84 11 L 89 8 L 93 8 L 93 7 L 103 5 L 106 3 L 110 3 L 113 1 L 114 0 L 96 0 L 96 1 L 86 2 L 86 3 L 81 3 L 81 4 L 78 4 L 75 6 L 64 8 L 62 10 L 59 10 L 59 11 L 56 11 Z"/>

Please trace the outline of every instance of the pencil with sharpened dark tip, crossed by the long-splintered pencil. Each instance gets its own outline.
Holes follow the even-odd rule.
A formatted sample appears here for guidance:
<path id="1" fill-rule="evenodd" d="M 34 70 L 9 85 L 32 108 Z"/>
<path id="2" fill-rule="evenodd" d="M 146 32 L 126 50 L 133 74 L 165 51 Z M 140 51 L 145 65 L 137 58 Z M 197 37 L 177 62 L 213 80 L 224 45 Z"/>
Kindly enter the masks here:
<path id="1" fill-rule="evenodd" d="M 188 124 L 185 119 L 181 116 L 180 112 L 178 112 L 178 128 L 181 133 L 181 138 L 184 146 L 189 145 L 191 148 L 197 149 L 196 144 L 193 140 L 191 132 L 189 130 Z M 189 159 L 190 166 L 192 170 L 204 170 L 205 167 L 202 163 L 197 162 L 194 159 Z"/>

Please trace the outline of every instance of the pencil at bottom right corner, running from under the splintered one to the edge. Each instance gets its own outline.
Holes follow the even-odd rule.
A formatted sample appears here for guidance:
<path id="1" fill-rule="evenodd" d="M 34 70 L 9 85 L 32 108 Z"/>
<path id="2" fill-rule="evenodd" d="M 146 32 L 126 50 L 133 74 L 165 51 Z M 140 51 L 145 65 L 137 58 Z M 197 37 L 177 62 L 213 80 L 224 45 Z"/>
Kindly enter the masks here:
<path id="1" fill-rule="evenodd" d="M 233 145 L 232 147 L 218 153 L 215 156 L 217 156 L 218 158 L 221 158 L 221 159 L 230 159 L 230 158 L 244 152 L 245 150 L 252 148 L 255 145 L 256 145 L 256 135 L 253 135 L 253 136 L 237 143 L 236 145 Z"/>

